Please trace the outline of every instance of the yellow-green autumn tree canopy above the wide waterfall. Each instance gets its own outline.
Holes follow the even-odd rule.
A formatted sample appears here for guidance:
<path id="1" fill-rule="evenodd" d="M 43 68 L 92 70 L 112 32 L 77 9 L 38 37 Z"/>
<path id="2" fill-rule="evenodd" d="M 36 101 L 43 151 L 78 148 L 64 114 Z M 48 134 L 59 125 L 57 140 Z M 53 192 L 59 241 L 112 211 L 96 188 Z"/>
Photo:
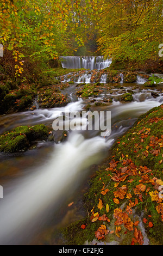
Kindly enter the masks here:
<path id="1" fill-rule="evenodd" d="M 59 56 L 104 54 L 118 60 L 158 58 L 163 0 L 1 0 L 0 43 L 15 68 L 24 58 L 46 65 Z M 92 48 L 92 49 L 91 49 Z M 14 59 L 14 62 L 12 62 Z M 22 61 L 23 60 L 23 61 Z"/>

